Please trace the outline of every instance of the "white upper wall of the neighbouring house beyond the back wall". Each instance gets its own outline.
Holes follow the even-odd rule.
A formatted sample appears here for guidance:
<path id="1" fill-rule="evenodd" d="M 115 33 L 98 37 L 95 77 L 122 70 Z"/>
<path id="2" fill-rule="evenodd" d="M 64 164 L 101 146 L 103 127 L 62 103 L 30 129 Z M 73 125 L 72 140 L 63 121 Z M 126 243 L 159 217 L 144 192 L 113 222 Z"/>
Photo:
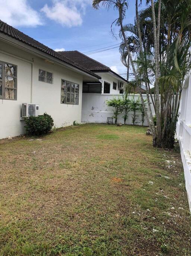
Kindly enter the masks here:
<path id="1" fill-rule="evenodd" d="M 104 90 L 104 81 L 110 84 L 110 94 L 119 94 L 119 90 L 118 90 L 118 81 L 120 80 L 119 78 L 115 77 L 114 75 L 112 75 L 109 72 L 101 72 L 101 73 L 95 73 L 98 76 L 101 76 L 101 83 L 102 83 L 102 92 Z M 125 82 L 120 80 L 121 82 L 123 82 L 124 86 L 125 86 Z M 117 90 L 113 90 L 113 82 L 116 82 L 117 84 Z"/>

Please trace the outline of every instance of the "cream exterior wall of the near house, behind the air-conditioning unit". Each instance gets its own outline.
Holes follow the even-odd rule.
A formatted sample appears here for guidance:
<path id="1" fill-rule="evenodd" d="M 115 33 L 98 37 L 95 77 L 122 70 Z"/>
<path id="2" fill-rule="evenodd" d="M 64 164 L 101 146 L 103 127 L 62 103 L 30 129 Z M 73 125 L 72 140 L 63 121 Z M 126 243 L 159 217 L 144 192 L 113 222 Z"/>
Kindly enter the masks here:
<path id="1" fill-rule="evenodd" d="M 17 100 L 0 99 L 0 139 L 25 133 L 24 121 L 20 120 L 22 103 L 38 103 L 39 114 L 50 114 L 56 127 L 70 125 L 74 120 L 81 122 L 82 74 L 46 63 L 43 58 L 4 42 L 0 43 L 0 61 L 18 66 Z M 53 84 L 38 81 L 39 69 L 54 73 Z M 79 84 L 79 105 L 60 103 L 61 79 Z"/>

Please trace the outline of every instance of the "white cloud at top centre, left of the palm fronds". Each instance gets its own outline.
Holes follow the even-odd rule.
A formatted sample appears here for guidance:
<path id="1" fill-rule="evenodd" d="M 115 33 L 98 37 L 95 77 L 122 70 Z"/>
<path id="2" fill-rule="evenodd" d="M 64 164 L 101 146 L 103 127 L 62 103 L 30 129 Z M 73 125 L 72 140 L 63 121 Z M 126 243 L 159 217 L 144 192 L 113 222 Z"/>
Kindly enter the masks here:
<path id="1" fill-rule="evenodd" d="M 85 14 L 87 4 L 91 4 L 91 0 L 52 0 L 52 6 L 45 6 L 41 9 L 47 18 L 57 23 L 73 27 L 82 24 L 82 16 Z"/>

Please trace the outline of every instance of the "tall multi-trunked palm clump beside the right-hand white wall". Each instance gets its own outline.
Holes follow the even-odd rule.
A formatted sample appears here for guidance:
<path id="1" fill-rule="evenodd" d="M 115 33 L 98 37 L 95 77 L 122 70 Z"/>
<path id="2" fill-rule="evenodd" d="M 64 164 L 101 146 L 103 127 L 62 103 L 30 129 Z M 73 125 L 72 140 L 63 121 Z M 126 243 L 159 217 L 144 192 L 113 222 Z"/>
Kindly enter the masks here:
<path id="1" fill-rule="evenodd" d="M 146 87 L 148 113 L 144 105 L 143 108 L 153 135 L 153 146 L 172 148 L 182 85 L 191 69 L 191 0 L 147 0 L 150 6 L 140 12 L 138 0 L 135 0 L 134 25 L 123 25 L 127 1 L 94 0 L 93 6 L 98 9 L 100 3 L 107 8 L 113 6 L 119 12 L 115 22 L 120 26 L 122 37 L 122 61 L 126 63 L 128 54 L 135 74 L 135 80 L 130 84 Z M 126 36 L 126 31 L 131 35 Z M 151 100 L 157 129 L 150 109 L 152 84 L 154 97 Z M 140 98 L 144 104 L 141 92 Z"/>

